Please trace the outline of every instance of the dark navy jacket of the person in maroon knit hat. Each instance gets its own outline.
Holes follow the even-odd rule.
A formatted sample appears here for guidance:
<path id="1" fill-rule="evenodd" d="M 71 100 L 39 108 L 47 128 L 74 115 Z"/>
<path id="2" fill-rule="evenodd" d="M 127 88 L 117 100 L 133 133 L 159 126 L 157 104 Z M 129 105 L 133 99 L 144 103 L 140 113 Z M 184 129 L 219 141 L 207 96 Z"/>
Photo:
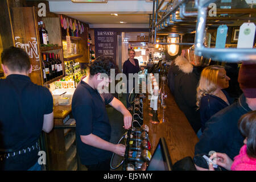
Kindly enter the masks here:
<path id="1" fill-rule="evenodd" d="M 242 94 L 237 102 L 214 114 L 205 123 L 204 133 L 195 146 L 195 155 L 209 151 L 225 153 L 230 159 L 239 154 L 244 137 L 238 130 L 238 120 L 251 111 Z"/>

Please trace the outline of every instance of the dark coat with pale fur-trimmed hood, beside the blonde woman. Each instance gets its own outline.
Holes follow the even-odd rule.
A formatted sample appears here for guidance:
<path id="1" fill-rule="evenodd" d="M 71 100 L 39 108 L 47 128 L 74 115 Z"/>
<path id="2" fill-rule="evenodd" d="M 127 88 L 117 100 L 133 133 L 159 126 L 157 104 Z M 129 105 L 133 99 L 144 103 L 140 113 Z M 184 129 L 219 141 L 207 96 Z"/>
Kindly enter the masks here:
<path id="1" fill-rule="evenodd" d="M 195 133 L 201 128 L 200 112 L 196 106 L 196 88 L 200 79 L 201 67 L 194 67 L 184 57 L 178 56 L 175 59 L 173 68 L 174 77 L 174 98 L 188 119 Z"/>

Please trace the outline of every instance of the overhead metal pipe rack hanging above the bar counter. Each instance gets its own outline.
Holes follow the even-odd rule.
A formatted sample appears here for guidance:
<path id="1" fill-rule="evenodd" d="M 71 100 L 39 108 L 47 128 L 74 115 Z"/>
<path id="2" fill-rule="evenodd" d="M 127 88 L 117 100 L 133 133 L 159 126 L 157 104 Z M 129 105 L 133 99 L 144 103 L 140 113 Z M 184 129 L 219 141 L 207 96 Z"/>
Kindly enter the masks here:
<path id="1" fill-rule="evenodd" d="M 216 2 L 216 0 L 196 0 L 195 7 L 197 8 L 197 13 L 195 11 L 186 12 L 185 6 L 186 3 L 192 0 L 183 0 L 177 3 L 175 7 L 173 7 L 170 11 L 166 11 L 166 14 L 163 16 L 162 19 L 157 19 L 157 13 L 160 10 L 160 6 L 158 7 L 158 0 L 156 0 L 156 16 L 153 18 L 155 19 L 155 23 L 153 22 L 154 26 L 152 26 L 152 32 L 154 32 L 154 44 L 162 44 L 162 45 L 184 45 L 184 44 L 193 44 L 193 43 L 156 43 L 156 34 L 158 31 L 168 31 L 168 27 L 172 26 L 173 32 L 179 33 L 191 33 L 196 32 L 196 39 L 195 39 L 195 53 L 199 56 L 204 56 L 206 58 L 211 58 L 212 60 L 217 61 L 226 61 L 230 63 L 237 63 L 239 61 L 256 61 L 256 49 L 253 48 L 206 48 L 204 46 L 204 36 L 205 36 L 205 27 L 207 24 L 221 24 L 221 23 L 233 23 L 230 22 L 232 18 L 229 18 L 229 22 L 207 22 L 207 13 L 208 13 L 208 5 L 209 3 Z M 162 4 L 162 1 L 160 5 Z M 179 10 L 179 16 L 181 19 L 176 18 L 176 13 Z M 242 11 L 242 9 L 232 10 L 220 10 L 217 14 L 221 13 L 228 13 L 228 14 L 239 14 L 239 13 L 255 13 L 255 9 L 251 9 L 250 11 Z M 154 9 L 153 9 L 154 15 Z M 195 17 L 197 15 L 197 17 Z M 189 18 L 188 18 L 189 17 Z M 218 18 L 216 18 L 218 19 Z M 208 18 L 208 20 L 216 20 L 212 17 Z M 220 18 L 221 19 L 221 18 Z M 235 18 L 233 18 L 235 19 Z M 246 18 L 242 18 L 246 19 Z M 253 19 L 253 18 L 251 18 Z M 170 21 L 171 20 L 171 21 Z M 222 20 L 225 20 L 222 18 Z M 196 26 L 195 29 L 192 22 L 195 22 Z M 184 23 L 181 27 L 181 23 Z M 188 23 L 188 24 L 186 24 Z M 189 26 L 189 27 L 187 27 Z M 155 30 L 154 30 L 155 28 Z M 166 30 L 167 29 L 167 30 Z M 195 31 L 196 30 L 196 31 Z"/>

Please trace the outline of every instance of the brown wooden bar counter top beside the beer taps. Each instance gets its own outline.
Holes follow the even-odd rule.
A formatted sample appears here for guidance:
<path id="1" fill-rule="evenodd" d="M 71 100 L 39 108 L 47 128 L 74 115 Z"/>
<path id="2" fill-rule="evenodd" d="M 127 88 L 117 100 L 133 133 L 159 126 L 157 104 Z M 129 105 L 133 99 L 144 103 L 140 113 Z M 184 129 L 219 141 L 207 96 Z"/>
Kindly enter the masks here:
<path id="1" fill-rule="evenodd" d="M 184 113 L 177 106 L 168 86 L 165 87 L 165 90 L 167 90 L 166 109 L 163 109 L 158 103 L 158 119 L 160 122 L 158 124 L 150 122 L 152 117 L 149 115 L 150 100 L 147 96 L 143 99 L 143 123 L 149 127 L 151 154 L 154 153 L 160 137 L 164 137 L 172 164 L 174 164 L 177 160 L 186 156 L 193 158 L 195 145 L 199 138 L 197 138 Z"/>

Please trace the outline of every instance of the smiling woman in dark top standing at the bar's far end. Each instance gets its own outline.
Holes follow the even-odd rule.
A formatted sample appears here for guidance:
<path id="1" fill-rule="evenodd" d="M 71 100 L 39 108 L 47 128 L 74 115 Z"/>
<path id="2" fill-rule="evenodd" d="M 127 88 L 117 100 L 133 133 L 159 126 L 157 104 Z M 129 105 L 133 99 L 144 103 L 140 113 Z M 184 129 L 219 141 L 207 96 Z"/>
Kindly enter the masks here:
<path id="1" fill-rule="evenodd" d="M 123 63 L 123 73 L 126 75 L 127 77 L 127 84 L 126 84 L 126 90 L 127 90 L 127 94 L 126 94 L 126 107 L 128 110 L 131 110 L 131 105 L 129 103 L 129 94 L 131 92 L 131 90 L 134 88 L 135 86 L 135 78 L 133 78 L 133 85 L 130 85 L 129 88 L 129 73 L 138 73 L 139 72 L 139 61 L 138 59 L 134 59 L 135 57 L 135 51 L 134 49 L 129 49 L 128 51 L 128 55 L 129 55 L 129 59 L 127 59 L 125 61 L 125 63 Z"/>

